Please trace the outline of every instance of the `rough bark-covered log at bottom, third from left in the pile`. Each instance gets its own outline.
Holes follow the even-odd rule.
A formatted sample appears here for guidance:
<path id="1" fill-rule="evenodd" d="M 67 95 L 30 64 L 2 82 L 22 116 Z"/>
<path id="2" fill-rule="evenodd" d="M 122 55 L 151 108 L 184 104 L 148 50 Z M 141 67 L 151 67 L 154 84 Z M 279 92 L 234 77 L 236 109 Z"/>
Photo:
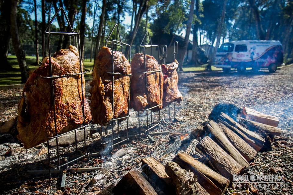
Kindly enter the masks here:
<path id="1" fill-rule="evenodd" d="M 176 188 L 177 195 L 209 195 L 208 192 L 197 182 L 197 177 L 192 172 L 179 167 L 175 162 L 168 162 L 165 171 L 171 178 Z"/>

